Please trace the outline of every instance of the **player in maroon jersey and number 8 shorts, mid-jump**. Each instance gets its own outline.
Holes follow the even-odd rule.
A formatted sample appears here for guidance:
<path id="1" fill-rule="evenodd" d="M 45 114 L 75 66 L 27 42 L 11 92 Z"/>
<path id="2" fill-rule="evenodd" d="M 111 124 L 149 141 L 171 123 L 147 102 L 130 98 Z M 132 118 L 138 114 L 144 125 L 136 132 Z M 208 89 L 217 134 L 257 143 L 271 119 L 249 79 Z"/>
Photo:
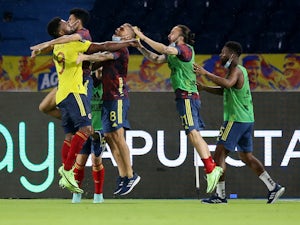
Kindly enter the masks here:
<path id="1" fill-rule="evenodd" d="M 128 40 L 135 37 L 130 24 L 125 23 L 115 30 L 113 40 Z M 140 176 L 133 172 L 130 152 L 125 140 L 125 130 L 130 129 L 127 119 L 129 109 L 128 87 L 126 77 L 129 52 L 122 48 L 111 53 L 79 55 L 77 62 L 83 60 L 102 62 L 103 82 L 103 132 L 118 165 L 119 176 L 114 194 L 130 193 L 140 181 Z"/>

